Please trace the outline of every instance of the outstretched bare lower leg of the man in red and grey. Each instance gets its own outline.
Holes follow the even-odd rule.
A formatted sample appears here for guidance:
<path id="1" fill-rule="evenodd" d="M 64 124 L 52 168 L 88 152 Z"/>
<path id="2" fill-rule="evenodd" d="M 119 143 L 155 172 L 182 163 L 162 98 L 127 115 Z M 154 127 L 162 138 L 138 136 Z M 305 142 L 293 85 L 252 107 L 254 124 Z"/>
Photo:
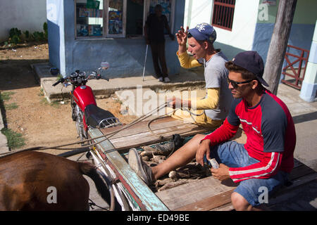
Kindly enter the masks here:
<path id="1" fill-rule="evenodd" d="M 175 151 L 170 157 L 164 162 L 160 163 L 155 167 L 151 167 L 153 178 L 159 179 L 161 176 L 168 172 L 187 165 L 192 159 L 195 158 L 197 149 L 201 139 L 204 139 L 204 134 L 197 134 L 190 139 L 184 146 Z"/>

